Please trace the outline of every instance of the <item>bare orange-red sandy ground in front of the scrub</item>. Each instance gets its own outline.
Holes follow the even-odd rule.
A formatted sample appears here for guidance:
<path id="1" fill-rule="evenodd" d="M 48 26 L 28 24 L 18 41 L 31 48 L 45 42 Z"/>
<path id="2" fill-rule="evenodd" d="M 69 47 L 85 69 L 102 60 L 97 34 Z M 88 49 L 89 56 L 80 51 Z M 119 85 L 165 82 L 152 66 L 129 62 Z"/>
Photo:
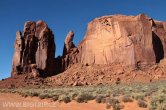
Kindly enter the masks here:
<path id="1" fill-rule="evenodd" d="M 9 107 L 5 104 L 9 103 L 27 103 L 27 104 L 45 104 L 45 106 L 29 106 L 29 107 Z M 27 105 L 26 105 L 27 106 Z M 68 104 L 53 102 L 47 99 L 39 99 L 37 97 L 21 97 L 18 94 L 0 93 L 0 110 L 107 110 L 106 104 L 98 104 L 95 101 L 88 103 L 70 102 Z M 110 109 L 112 110 L 112 109 Z M 148 110 L 148 108 L 140 108 L 137 102 L 125 103 L 123 110 Z"/>

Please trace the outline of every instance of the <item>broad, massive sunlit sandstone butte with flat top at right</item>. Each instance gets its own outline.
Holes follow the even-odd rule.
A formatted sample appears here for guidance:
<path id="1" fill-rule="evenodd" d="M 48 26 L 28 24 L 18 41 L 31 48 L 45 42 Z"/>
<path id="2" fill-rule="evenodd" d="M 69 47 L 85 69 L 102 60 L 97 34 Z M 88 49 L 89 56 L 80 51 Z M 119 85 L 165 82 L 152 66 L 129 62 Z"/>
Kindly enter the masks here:
<path id="1" fill-rule="evenodd" d="M 79 44 L 80 62 L 133 67 L 158 63 L 165 55 L 164 24 L 144 14 L 96 18 Z"/>

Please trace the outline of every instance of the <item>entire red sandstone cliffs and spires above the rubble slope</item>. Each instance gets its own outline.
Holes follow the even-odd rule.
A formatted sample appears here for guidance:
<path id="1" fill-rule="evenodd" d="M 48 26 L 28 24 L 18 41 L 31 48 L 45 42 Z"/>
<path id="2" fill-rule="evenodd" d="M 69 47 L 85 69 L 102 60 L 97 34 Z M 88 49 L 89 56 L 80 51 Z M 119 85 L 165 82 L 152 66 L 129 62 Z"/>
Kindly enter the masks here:
<path id="1" fill-rule="evenodd" d="M 54 35 L 44 21 L 28 21 L 23 33 L 16 33 L 12 76 L 34 73 L 52 76 L 81 65 L 114 65 L 141 68 L 155 65 L 166 57 L 166 22 L 145 14 L 111 15 L 88 24 L 78 47 L 70 31 L 62 56 L 55 58 Z"/>

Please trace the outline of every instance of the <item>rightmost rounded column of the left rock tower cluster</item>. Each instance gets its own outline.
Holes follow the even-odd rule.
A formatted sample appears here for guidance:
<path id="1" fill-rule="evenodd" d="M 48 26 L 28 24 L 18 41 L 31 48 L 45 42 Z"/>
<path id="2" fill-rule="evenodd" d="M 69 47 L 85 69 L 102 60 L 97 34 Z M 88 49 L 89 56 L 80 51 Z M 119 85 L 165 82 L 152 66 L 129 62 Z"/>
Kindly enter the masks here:
<path id="1" fill-rule="evenodd" d="M 43 21 L 36 23 L 38 46 L 36 51 L 37 67 L 43 72 L 54 73 L 55 43 L 54 35 Z"/>

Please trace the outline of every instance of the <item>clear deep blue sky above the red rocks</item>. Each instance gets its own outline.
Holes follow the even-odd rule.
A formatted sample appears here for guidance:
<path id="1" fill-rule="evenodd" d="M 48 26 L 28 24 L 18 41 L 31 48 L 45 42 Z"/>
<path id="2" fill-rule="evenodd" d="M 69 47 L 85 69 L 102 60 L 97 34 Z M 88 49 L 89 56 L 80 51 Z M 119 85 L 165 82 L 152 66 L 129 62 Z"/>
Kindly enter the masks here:
<path id="1" fill-rule="evenodd" d="M 77 45 L 94 18 L 139 13 L 166 21 L 166 0 L 0 0 L 0 79 L 10 77 L 15 33 L 23 30 L 25 21 L 44 20 L 48 24 L 58 56 L 70 30 L 75 32 Z"/>

